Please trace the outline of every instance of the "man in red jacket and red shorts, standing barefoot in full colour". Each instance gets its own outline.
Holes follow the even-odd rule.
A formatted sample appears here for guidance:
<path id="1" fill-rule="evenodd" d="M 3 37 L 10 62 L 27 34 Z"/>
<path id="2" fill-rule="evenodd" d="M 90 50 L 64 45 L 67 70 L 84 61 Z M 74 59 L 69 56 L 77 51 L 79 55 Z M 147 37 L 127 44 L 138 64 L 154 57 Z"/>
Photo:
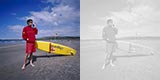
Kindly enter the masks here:
<path id="1" fill-rule="evenodd" d="M 36 52 L 35 35 L 38 33 L 38 29 L 33 24 L 32 19 L 28 19 L 27 24 L 28 25 L 23 28 L 23 32 L 22 32 L 22 37 L 26 41 L 26 55 L 25 55 L 24 64 L 22 66 L 22 69 L 25 69 L 28 57 L 29 57 L 31 66 L 34 67 L 33 62 L 32 62 L 33 61 L 32 54 L 33 52 Z"/>

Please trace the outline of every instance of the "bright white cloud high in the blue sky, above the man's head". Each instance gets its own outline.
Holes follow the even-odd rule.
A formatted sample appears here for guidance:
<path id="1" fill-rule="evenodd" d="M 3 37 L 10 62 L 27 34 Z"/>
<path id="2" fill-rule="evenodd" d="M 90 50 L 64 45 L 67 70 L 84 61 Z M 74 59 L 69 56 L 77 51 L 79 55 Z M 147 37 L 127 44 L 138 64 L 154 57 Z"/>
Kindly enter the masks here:
<path id="1" fill-rule="evenodd" d="M 50 10 L 42 10 L 39 12 L 31 11 L 31 16 L 23 17 L 23 19 L 31 18 L 38 24 L 44 26 L 58 26 L 79 21 L 79 11 L 75 11 L 74 8 L 68 5 L 52 7 Z"/>

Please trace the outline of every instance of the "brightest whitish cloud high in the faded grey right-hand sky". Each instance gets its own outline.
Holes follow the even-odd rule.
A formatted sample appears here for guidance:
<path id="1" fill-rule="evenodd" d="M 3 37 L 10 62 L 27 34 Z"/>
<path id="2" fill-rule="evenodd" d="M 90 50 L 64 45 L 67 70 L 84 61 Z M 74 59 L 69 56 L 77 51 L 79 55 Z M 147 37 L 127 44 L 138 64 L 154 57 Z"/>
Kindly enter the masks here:
<path id="1" fill-rule="evenodd" d="M 146 18 L 151 17 L 150 15 L 152 14 L 152 12 L 153 9 L 150 6 L 138 6 L 131 8 L 130 10 L 125 9 L 119 12 L 110 13 L 112 14 L 112 18 L 118 20 L 118 22 L 138 25 L 143 23 Z"/>

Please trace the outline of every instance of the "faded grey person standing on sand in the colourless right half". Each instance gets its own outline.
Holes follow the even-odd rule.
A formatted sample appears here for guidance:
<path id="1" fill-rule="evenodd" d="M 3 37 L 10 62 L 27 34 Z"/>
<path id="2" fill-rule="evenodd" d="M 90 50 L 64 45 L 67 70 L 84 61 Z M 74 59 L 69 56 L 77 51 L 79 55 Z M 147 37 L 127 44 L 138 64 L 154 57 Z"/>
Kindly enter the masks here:
<path id="1" fill-rule="evenodd" d="M 117 42 L 116 42 L 116 34 L 118 33 L 118 29 L 114 27 L 113 20 L 107 20 L 107 26 L 103 28 L 102 37 L 106 41 L 106 53 L 107 56 L 105 58 L 105 63 L 102 69 L 105 68 L 107 64 L 113 65 L 113 53 L 116 51 Z"/>

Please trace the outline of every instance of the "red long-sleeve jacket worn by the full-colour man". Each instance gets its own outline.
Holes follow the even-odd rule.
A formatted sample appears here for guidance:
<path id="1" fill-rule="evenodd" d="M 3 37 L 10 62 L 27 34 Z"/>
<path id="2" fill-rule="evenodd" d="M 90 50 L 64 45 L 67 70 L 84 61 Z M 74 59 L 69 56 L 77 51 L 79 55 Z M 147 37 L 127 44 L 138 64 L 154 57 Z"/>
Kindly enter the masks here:
<path id="1" fill-rule="evenodd" d="M 38 33 L 37 28 L 32 28 L 31 26 L 26 26 L 23 28 L 22 38 L 27 42 L 35 42 Z"/>

